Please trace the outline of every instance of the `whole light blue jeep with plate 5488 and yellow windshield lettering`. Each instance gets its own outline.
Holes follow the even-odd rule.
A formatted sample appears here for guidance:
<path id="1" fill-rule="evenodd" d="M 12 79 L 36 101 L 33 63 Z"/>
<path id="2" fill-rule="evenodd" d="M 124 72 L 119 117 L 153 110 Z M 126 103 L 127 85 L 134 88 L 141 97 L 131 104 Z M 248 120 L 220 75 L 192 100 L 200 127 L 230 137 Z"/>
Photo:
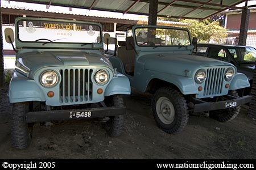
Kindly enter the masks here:
<path id="1" fill-rule="evenodd" d="M 11 28 L 5 37 L 13 44 Z M 97 117 L 111 137 L 122 133 L 121 95 L 130 94 L 130 83 L 104 57 L 102 38 L 98 23 L 15 20 L 16 66 L 9 86 L 14 147 L 30 144 L 35 122 Z"/>

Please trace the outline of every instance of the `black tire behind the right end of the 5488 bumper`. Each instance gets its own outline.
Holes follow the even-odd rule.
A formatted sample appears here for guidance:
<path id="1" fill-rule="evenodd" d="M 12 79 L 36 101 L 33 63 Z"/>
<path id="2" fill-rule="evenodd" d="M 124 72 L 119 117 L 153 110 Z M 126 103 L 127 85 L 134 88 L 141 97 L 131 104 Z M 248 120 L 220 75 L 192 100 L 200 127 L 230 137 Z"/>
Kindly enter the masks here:
<path id="1" fill-rule="evenodd" d="M 105 99 L 105 104 L 108 107 L 123 107 L 123 98 L 119 95 L 109 96 Z M 105 122 L 104 127 L 106 133 L 110 137 L 118 137 L 123 132 L 124 118 L 123 115 L 110 116 L 109 120 Z"/>

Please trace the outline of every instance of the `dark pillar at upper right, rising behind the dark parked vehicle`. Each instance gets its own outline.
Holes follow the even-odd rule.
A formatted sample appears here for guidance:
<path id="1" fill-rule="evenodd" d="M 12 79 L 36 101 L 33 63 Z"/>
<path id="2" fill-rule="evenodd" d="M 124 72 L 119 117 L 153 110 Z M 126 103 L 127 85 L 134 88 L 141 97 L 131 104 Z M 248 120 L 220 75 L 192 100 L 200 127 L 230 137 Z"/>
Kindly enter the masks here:
<path id="1" fill-rule="evenodd" d="M 246 45 L 247 39 L 247 31 L 249 27 L 249 18 L 250 18 L 250 10 L 248 7 L 243 8 L 242 16 L 241 16 L 241 24 L 240 24 L 240 36 L 239 36 L 239 45 Z"/>

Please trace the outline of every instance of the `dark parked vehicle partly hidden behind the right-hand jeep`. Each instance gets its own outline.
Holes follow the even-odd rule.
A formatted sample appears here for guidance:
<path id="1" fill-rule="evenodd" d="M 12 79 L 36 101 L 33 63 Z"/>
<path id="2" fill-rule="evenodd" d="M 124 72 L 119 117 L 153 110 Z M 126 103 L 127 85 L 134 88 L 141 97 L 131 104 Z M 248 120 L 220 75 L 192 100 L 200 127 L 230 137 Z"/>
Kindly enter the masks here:
<path id="1" fill-rule="evenodd" d="M 253 83 L 256 49 L 251 46 L 227 44 L 197 44 L 196 55 L 219 59 L 232 63 L 239 73 L 243 73 Z M 250 94 L 251 87 L 239 91 L 240 95 Z"/>

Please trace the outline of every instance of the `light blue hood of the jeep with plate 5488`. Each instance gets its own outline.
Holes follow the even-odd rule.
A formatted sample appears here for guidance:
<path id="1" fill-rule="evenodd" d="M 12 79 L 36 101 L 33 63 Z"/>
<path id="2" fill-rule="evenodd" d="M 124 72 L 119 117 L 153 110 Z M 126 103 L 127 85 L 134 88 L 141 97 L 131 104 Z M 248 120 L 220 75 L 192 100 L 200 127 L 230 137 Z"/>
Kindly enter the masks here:
<path id="1" fill-rule="evenodd" d="M 112 68 L 108 59 L 102 55 L 85 52 L 28 52 L 20 54 L 18 62 L 30 70 L 30 75 L 34 75 L 43 67 L 52 66 L 105 66 Z"/>

